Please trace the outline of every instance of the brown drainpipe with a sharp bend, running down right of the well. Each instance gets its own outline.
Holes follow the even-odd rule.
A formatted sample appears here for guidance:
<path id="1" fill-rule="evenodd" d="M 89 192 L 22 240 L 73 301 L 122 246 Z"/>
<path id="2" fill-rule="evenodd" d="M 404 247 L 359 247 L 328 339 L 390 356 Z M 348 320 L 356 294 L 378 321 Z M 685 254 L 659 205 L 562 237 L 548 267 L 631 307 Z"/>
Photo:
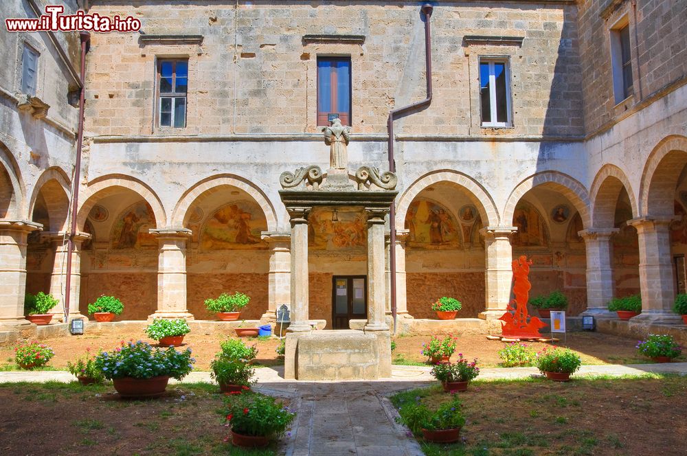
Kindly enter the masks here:
<path id="1" fill-rule="evenodd" d="M 420 9 L 425 14 L 425 66 L 427 73 L 427 98 L 421 102 L 403 106 L 403 108 L 394 109 L 389 113 L 387 120 L 387 132 L 389 134 L 389 170 L 396 172 L 396 162 L 394 161 L 394 120 L 398 117 L 405 117 L 405 115 L 421 111 L 431 104 L 431 35 L 429 33 L 429 18 L 433 10 L 433 6 L 425 3 Z M 389 269 L 391 273 L 391 313 L 394 319 L 394 334 L 396 334 L 396 202 L 391 203 L 389 212 L 389 226 L 390 226 L 390 247 L 389 247 Z"/>

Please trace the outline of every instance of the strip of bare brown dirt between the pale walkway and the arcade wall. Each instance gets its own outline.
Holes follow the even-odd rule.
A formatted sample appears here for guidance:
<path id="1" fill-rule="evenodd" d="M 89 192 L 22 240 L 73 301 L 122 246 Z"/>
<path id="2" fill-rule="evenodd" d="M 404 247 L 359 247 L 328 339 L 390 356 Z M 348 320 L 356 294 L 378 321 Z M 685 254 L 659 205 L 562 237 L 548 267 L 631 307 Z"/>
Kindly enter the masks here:
<path id="1" fill-rule="evenodd" d="M 82 336 L 67 336 L 56 339 L 45 339 L 45 343 L 55 352 L 54 358 L 48 363 L 52 369 L 66 369 L 67 361 L 80 354 L 84 354 L 88 347 L 91 352 L 98 352 L 100 348 L 112 350 L 120 345 L 120 341 L 132 339 L 132 334 L 113 334 L 94 336 L 85 334 Z M 155 343 L 146 337 L 134 337 Z M 184 347 L 191 347 L 193 356 L 196 358 L 194 368 L 196 370 L 210 370 L 210 361 L 214 354 L 219 351 L 219 343 L 225 337 L 221 335 L 186 334 L 183 339 Z M 256 344 L 258 347 L 257 362 L 262 365 L 278 365 L 283 361 L 277 358 L 275 352 L 279 345 L 279 339 L 260 340 L 258 338 L 244 338 L 249 345 Z M 420 354 L 423 342 L 428 342 L 429 336 L 396 337 L 396 350 L 394 351 L 394 362 L 423 363 L 426 358 Z M 567 345 L 581 354 L 584 364 L 631 364 L 631 363 L 651 363 L 652 361 L 638 354 L 635 350 L 637 341 L 622 337 L 599 334 L 596 332 L 571 332 L 567 334 L 567 339 L 557 343 L 557 345 Z M 498 351 L 504 347 L 501 341 L 488 341 L 486 336 L 479 334 L 458 335 L 458 345 L 456 352 L 451 356 L 451 360 L 458 358 L 458 353 L 462 353 L 466 358 L 478 358 L 481 367 L 496 367 L 500 362 Z M 536 350 L 541 350 L 545 343 L 532 343 Z M 178 349 L 177 349 L 178 350 Z M 4 345 L 0 347 L 0 369 L 12 368 L 14 357 L 14 346 Z M 681 360 L 682 361 L 682 360 Z"/>

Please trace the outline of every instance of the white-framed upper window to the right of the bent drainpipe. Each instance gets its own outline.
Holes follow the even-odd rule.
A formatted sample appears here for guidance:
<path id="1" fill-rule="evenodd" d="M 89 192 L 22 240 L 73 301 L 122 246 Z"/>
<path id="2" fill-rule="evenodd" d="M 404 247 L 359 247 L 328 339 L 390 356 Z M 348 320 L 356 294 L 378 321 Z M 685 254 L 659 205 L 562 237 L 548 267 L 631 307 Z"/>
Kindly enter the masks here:
<path id="1" fill-rule="evenodd" d="M 480 59 L 482 126 L 511 126 L 508 60 Z"/>

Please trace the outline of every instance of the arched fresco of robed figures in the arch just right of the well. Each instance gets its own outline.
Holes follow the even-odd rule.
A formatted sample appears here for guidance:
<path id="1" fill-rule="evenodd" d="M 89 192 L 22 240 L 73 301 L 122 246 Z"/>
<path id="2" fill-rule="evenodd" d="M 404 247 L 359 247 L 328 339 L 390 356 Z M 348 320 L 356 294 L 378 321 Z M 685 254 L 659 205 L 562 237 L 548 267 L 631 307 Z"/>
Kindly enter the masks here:
<path id="1" fill-rule="evenodd" d="M 406 245 L 420 249 L 459 249 L 459 226 L 442 205 L 427 199 L 416 200 L 405 218 L 405 228 L 409 230 Z"/>

